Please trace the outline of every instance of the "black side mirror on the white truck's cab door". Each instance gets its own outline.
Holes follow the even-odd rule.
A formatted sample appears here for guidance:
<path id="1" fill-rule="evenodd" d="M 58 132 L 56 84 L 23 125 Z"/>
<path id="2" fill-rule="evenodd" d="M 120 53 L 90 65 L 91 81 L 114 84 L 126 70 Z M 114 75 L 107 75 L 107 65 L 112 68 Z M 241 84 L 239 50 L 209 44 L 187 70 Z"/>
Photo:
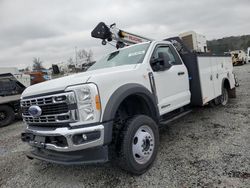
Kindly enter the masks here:
<path id="1" fill-rule="evenodd" d="M 151 60 L 150 63 L 154 71 L 164 71 L 172 66 L 169 60 L 167 53 L 159 52 L 158 58 Z"/>

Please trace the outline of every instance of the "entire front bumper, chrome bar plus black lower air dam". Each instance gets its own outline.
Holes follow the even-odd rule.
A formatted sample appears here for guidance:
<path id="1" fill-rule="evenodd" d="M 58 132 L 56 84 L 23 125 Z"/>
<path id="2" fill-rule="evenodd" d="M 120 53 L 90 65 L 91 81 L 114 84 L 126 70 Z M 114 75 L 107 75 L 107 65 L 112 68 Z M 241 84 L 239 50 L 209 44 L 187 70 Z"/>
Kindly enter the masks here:
<path id="1" fill-rule="evenodd" d="M 79 127 L 27 127 L 21 137 L 32 146 L 28 158 L 59 164 L 88 164 L 106 162 L 109 159 L 108 144 L 112 140 L 113 122 Z M 79 135 L 81 137 L 79 137 Z M 83 142 L 76 143 L 77 138 Z M 63 144 L 61 143 L 63 141 Z"/>

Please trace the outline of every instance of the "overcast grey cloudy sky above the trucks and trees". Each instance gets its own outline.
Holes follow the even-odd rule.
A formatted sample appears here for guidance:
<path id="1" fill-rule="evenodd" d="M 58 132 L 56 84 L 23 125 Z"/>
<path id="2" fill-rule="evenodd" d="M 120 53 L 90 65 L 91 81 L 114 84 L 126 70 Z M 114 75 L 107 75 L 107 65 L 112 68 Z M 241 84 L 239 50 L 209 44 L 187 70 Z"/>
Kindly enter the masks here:
<path id="1" fill-rule="evenodd" d="M 152 39 L 196 31 L 208 40 L 250 34 L 250 0 L 0 0 L 0 67 L 45 67 L 115 48 L 91 37 L 99 22 Z"/>

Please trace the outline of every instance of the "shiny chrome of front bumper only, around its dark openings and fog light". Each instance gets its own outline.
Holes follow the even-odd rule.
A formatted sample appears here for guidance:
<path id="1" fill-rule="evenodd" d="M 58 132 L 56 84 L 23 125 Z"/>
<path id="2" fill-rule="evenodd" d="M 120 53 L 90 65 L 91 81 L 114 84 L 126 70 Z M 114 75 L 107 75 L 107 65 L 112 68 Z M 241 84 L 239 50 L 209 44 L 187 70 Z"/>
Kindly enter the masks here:
<path id="1" fill-rule="evenodd" d="M 96 140 L 86 141 L 83 144 L 74 144 L 73 143 L 73 136 L 77 134 L 84 134 L 84 133 L 91 133 L 99 131 L 100 137 Z M 67 140 L 67 146 L 58 146 L 52 143 L 37 143 L 37 141 L 30 140 L 27 141 L 29 145 L 33 147 L 41 147 L 44 149 L 59 151 L 59 152 L 68 152 L 68 151 L 78 151 L 87 148 L 92 148 L 96 146 L 102 146 L 104 144 L 104 126 L 103 125 L 96 125 L 91 127 L 84 127 L 84 128 L 77 128 L 77 129 L 70 129 L 68 127 L 56 128 L 54 130 L 42 130 L 42 129 L 30 129 L 29 127 L 26 129 L 25 133 L 33 134 L 34 136 L 63 136 Z M 24 133 L 24 134 L 25 134 Z"/>

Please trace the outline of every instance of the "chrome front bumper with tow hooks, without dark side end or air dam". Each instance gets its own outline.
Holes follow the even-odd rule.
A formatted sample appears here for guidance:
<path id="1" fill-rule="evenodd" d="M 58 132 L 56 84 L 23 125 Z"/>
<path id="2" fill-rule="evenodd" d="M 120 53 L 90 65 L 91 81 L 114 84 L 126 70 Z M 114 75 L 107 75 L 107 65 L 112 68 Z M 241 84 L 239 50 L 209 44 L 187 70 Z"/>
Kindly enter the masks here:
<path id="1" fill-rule="evenodd" d="M 85 135 L 87 133 L 97 133 L 98 137 L 88 141 L 76 144 L 74 136 Z M 41 139 L 42 138 L 42 139 Z M 54 141 L 48 141 L 47 138 L 53 138 Z M 63 138 L 66 140 L 64 144 L 57 144 L 56 139 Z M 54 151 L 68 152 L 83 150 L 91 147 L 101 146 L 104 143 L 104 126 L 96 125 L 91 127 L 84 127 L 78 129 L 70 129 L 69 127 L 61 127 L 56 129 L 40 129 L 40 128 L 27 128 L 25 133 L 22 133 L 22 140 L 28 142 L 29 145 L 38 148 L 44 148 Z"/>

